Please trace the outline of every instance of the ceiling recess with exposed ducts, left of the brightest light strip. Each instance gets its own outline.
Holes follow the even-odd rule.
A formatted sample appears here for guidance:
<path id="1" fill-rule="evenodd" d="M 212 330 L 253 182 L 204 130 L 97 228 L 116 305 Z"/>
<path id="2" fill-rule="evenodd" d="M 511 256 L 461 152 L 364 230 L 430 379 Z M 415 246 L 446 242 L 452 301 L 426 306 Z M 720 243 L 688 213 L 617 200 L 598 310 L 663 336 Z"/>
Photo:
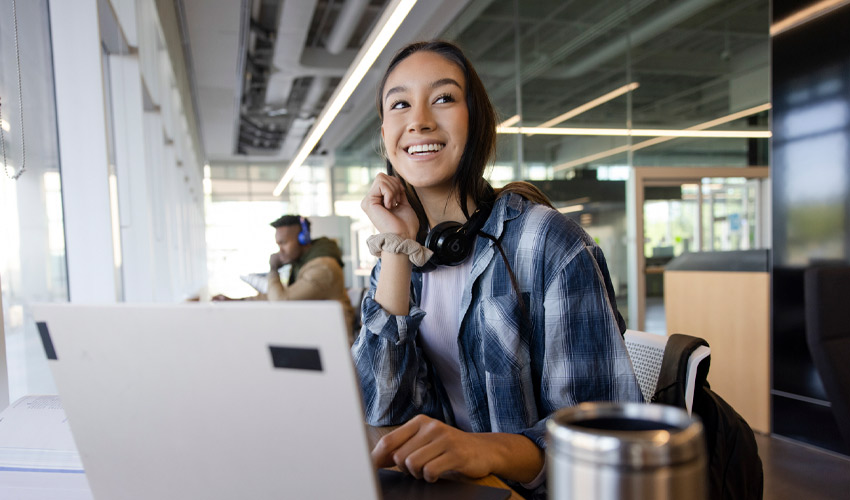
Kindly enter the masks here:
<path id="1" fill-rule="evenodd" d="M 237 151 L 288 160 L 351 63 L 349 41 L 370 0 L 261 3 L 260 19 L 252 20 L 257 35 L 246 68 L 250 84 Z M 272 26 L 274 32 L 266 34 Z"/>

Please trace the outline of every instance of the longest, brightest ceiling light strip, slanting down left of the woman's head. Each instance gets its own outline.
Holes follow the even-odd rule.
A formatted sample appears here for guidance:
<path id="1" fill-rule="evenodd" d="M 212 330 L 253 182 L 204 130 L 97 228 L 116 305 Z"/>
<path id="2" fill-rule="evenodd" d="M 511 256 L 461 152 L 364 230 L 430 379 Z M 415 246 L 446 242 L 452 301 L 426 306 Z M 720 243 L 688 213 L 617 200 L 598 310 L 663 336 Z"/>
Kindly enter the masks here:
<path id="1" fill-rule="evenodd" d="M 349 66 L 348 71 L 343 76 L 333 96 L 331 96 L 331 99 L 319 114 L 319 119 L 310 128 L 307 138 L 301 144 L 301 148 L 298 150 L 295 158 L 283 173 L 283 177 L 280 178 L 277 187 L 274 188 L 272 192 L 274 196 L 280 196 L 280 193 L 283 192 L 286 185 L 295 176 L 295 172 L 301 167 L 313 148 L 316 147 L 319 139 L 328 130 L 328 127 L 334 118 L 336 118 L 336 115 L 339 114 L 342 106 L 348 101 L 351 94 L 354 93 L 354 89 L 357 88 L 357 85 L 366 76 L 366 72 L 375 63 L 375 60 L 384 50 L 384 47 L 387 46 L 387 43 L 389 43 L 396 30 L 398 30 L 398 27 L 401 26 L 401 23 L 407 17 L 414 4 L 416 4 L 416 0 L 390 0 L 378 23 L 375 25 L 375 29 L 369 34 L 369 38 L 363 44 L 363 48 L 357 53 L 357 57 L 354 58 L 354 62 Z"/>

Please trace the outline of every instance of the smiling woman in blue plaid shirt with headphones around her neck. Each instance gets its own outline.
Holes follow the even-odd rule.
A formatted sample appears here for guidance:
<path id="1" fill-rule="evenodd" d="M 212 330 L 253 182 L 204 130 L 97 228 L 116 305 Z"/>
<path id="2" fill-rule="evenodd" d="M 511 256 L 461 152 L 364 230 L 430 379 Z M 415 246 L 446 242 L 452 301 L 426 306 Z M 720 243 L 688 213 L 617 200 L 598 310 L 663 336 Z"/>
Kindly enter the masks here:
<path id="1" fill-rule="evenodd" d="M 387 173 L 361 207 L 381 259 L 353 353 L 368 423 L 401 427 L 373 459 L 543 497 L 552 412 L 642 400 L 605 258 L 530 184 L 484 179 L 495 113 L 455 45 L 403 48 L 377 104 Z"/>

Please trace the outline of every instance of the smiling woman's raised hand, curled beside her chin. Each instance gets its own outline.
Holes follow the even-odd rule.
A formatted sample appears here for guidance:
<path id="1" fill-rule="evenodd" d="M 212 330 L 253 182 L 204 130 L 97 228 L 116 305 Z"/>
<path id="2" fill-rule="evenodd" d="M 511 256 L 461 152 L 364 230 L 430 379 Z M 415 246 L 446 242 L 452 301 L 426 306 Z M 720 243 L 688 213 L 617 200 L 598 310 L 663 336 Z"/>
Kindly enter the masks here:
<path id="1" fill-rule="evenodd" d="M 416 239 L 419 219 L 407 201 L 401 179 L 379 173 L 360 202 L 360 208 L 378 231 Z"/>

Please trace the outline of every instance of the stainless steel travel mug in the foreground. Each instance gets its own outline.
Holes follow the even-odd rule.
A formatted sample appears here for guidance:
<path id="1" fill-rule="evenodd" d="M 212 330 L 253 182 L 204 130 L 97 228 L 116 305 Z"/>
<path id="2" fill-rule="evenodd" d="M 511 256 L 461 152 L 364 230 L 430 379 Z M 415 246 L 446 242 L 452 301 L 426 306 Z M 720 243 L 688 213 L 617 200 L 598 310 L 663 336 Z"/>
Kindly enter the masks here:
<path id="1" fill-rule="evenodd" d="M 549 500 L 707 498 L 703 427 L 673 406 L 582 403 L 547 422 Z"/>

